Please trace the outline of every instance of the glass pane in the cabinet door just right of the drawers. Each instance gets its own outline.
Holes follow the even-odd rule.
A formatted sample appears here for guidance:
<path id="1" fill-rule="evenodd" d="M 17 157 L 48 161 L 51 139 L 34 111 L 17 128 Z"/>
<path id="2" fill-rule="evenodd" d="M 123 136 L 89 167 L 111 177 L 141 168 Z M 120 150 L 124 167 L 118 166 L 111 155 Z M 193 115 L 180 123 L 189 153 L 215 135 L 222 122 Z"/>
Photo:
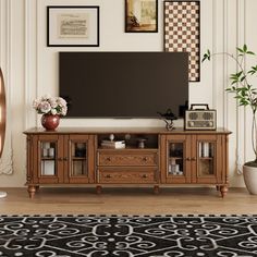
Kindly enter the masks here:
<path id="1" fill-rule="evenodd" d="M 169 174 L 184 175 L 183 167 L 183 143 L 171 143 L 169 145 Z"/>

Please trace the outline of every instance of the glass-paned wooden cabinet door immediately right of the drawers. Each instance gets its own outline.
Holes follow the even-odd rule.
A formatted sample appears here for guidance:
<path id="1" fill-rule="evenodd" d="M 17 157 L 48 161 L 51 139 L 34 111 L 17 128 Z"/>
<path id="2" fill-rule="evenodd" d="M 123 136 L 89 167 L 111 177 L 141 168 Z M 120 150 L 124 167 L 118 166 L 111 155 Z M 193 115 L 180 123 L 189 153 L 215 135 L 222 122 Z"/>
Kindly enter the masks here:
<path id="1" fill-rule="evenodd" d="M 161 137 L 161 182 L 191 183 L 191 136 Z"/>

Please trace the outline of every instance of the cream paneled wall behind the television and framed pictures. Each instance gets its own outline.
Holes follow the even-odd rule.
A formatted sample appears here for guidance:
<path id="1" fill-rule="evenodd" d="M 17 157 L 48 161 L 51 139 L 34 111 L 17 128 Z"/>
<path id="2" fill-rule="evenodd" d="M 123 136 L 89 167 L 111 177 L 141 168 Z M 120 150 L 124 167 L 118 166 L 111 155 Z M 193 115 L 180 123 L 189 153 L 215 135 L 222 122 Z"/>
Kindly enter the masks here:
<path id="1" fill-rule="evenodd" d="M 247 42 L 257 52 L 254 17 L 256 0 L 201 0 L 201 54 L 211 51 L 235 52 Z M 99 5 L 100 47 L 47 47 L 47 5 Z M 0 0 L 0 64 L 3 69 L 9 106 L 9 144 L 0 173 L 12 168 L 12 174 L 0 176 L 1 186 L 23 186 L 26 182 L 26 145 L 23 131 L 38 125 L 39 115 L 32 109 L 34 98 L 58 94 L 59 51 L 162 51 L 163 3 L 159 0 L 159 32 L 124 33 L 124 0 Z M 248 150 L 249 117 L 237 109 L 232 96 L 224 93 L 228 74 L 234 64 L 219 58 L 201 64 L 199 83 L 189 84 L 191 102 L 208 102 L 218 110 L 218 125 L 233 132 L 230 136 L 230 182 L 243 186 L 236 166 L 250 159 Z M 179 123 L 181 124 L 181 123 Z M 62 126 L 163 126 L 158 120 L 62 120 Z M 245 143 L 245 137 L 247 142 Z M 243 154 L 245 152 L 245 155 Z M 240 163 L 237 163 L 240 160 Z"/>

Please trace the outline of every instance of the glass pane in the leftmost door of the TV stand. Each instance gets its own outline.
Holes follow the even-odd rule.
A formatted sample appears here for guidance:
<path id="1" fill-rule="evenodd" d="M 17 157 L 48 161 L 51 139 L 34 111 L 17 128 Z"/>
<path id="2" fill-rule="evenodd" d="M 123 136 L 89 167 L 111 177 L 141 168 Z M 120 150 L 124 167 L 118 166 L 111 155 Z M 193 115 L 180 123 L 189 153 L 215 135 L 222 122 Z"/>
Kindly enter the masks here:
<path id="1" fill-rule="evenodd" d="M 56 175 L 57 144 L 54 142 L 41 142 L 41 175 Z"/>

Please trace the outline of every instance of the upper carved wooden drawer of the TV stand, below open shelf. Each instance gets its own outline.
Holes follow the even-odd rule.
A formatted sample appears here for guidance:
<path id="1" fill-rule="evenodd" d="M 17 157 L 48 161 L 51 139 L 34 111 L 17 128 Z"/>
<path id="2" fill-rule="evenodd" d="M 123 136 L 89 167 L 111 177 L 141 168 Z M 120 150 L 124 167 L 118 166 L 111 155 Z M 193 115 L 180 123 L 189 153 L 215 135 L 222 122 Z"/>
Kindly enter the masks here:
<path id="1" fill-rule="evenodd" d="M 99 152 L 98 166 L 157 166 L 157 152 Z"/>

